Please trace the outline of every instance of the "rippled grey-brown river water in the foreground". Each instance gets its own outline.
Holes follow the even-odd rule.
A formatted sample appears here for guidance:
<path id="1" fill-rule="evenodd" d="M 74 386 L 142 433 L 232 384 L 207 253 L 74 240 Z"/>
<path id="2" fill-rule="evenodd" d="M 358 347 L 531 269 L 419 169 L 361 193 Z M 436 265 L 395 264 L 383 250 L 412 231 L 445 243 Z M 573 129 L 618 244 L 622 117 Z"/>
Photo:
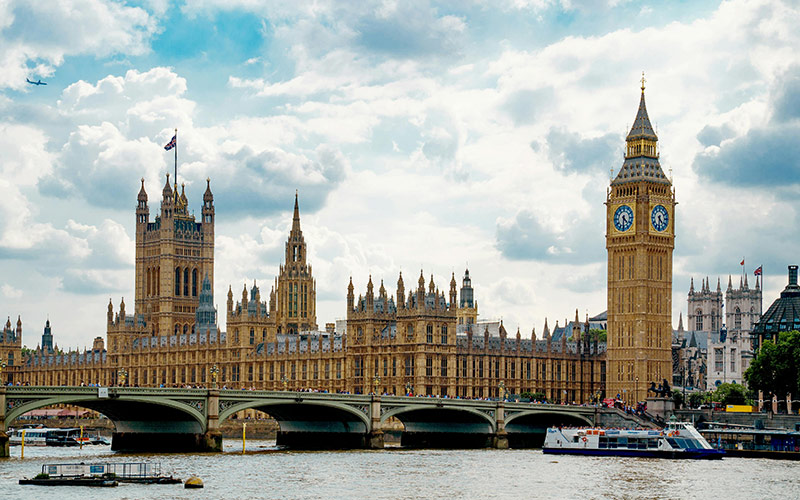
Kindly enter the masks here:
<path id="1" fill-rule="evenodd" d="M 108 446 L 11 448 L 0 459 L 0 498 L 115 499 L 749 499 L 800 498 L 800 463 L 568 457 L 541 450 L 283 451 L 274 441 L 225 440 L 222 454 L 120 454 Z M 182 485 L 116 488 L 20 486 L 45 463 L 159 462 L 163 473 L 197 475 Z"/>

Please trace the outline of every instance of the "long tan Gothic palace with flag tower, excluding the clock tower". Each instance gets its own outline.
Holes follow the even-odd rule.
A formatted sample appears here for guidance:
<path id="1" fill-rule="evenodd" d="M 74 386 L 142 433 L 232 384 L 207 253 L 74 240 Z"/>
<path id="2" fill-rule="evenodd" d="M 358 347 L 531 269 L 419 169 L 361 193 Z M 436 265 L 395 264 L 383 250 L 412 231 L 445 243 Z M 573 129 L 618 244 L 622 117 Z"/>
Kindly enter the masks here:
<path id="1" fill-rule="evenodd" d="M 584 402 L 602 396 L 605 344 L 590 338 L 577 317 L 570 334 L 552 339 L 509 336 L 500 322 L 478 323 L 469 271 L 447 295 L 421 274 L 396 298 L 370 279 L 358 301 L 352 282 L 346 331 L 317 331 L 316 286 L 306 261 L 295 198 L 292 229 L 269 301 L 257 283 L 234 301 L 229 287 L 227 332 L 213 306 L 214 205 L 210 182 L 201 222 L 188 215 L 183 192 L 164 187 L 161 215 L 149 222 L 144 185 L 137 205 L 134 313 L 124 300 L 109 303 L 108 346 L 50 351 L 52 334 L 24 361 L 15 381 L 33 385 L 124 384 L 208 386 L 212 371 L 228 388 L 314 389 L 352 393 L 500 397 L 543 393 L 550 401 Z M 197 277 L 195 280 L 195 276 Z M 566 322 L 565 322 L 566 323 Z M 483 329 L 483 330 L 481 330 Z M 49 344 L 48 344 L 49 342 Z M 17 357 L 16 359 L 20 359 Z"/>

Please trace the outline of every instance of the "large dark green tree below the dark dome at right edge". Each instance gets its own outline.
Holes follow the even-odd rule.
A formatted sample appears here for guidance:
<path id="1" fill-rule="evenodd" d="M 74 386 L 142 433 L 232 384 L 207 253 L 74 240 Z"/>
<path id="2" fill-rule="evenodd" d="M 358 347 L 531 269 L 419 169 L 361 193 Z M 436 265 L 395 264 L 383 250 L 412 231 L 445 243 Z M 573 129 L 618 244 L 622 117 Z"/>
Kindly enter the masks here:
<path id="1" fill-rule="evenodd" d="M 753 391 L 764 396 L 800 394 L 800 332 L 781 332 L 776 340 L 765 340 L 744 374 Z"/>

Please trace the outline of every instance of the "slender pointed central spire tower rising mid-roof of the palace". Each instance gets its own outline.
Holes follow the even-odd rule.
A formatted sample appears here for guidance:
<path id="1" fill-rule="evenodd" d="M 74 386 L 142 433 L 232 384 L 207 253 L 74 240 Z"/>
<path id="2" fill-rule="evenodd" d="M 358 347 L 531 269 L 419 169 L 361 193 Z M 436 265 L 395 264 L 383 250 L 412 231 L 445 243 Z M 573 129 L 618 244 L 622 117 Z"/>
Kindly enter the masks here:
<path id="1" fill-rule="evenodd" d="M 306 242 L 300 230 L 300 208 L 295 193 L 292 230 L 286 241 L 285 261 L 277 279 L 275 318 L 278 334 L 317 329 L 316 284 L 306 257 Z"/>

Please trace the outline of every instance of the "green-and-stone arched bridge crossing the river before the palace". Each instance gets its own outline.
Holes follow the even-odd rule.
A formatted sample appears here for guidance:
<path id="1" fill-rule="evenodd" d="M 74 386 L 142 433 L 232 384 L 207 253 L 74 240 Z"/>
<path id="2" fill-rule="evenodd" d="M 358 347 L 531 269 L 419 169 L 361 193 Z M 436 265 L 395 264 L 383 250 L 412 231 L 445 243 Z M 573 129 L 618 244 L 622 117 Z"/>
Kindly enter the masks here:
<path id="1" fill-rule="evenodd" d="M 221 451 L 220 422 L 248 409 L 277 420 L 277 444 L 299 449 L 383 448 L 383 429 L 392 417 L 403 424 L 402 446 L 437 448 L 541 446 L 549 426 L 609 422 L 609 415 L 603 415 L 608 409 L 508 401 L 228 389 L 8 386 L 0 387 L 0 457 L 8 456 L 5 430 L 11 421 L 28 411 L 58 404 L 105 415 L 115 426 L 112 449 L 120 451 Z"/>

